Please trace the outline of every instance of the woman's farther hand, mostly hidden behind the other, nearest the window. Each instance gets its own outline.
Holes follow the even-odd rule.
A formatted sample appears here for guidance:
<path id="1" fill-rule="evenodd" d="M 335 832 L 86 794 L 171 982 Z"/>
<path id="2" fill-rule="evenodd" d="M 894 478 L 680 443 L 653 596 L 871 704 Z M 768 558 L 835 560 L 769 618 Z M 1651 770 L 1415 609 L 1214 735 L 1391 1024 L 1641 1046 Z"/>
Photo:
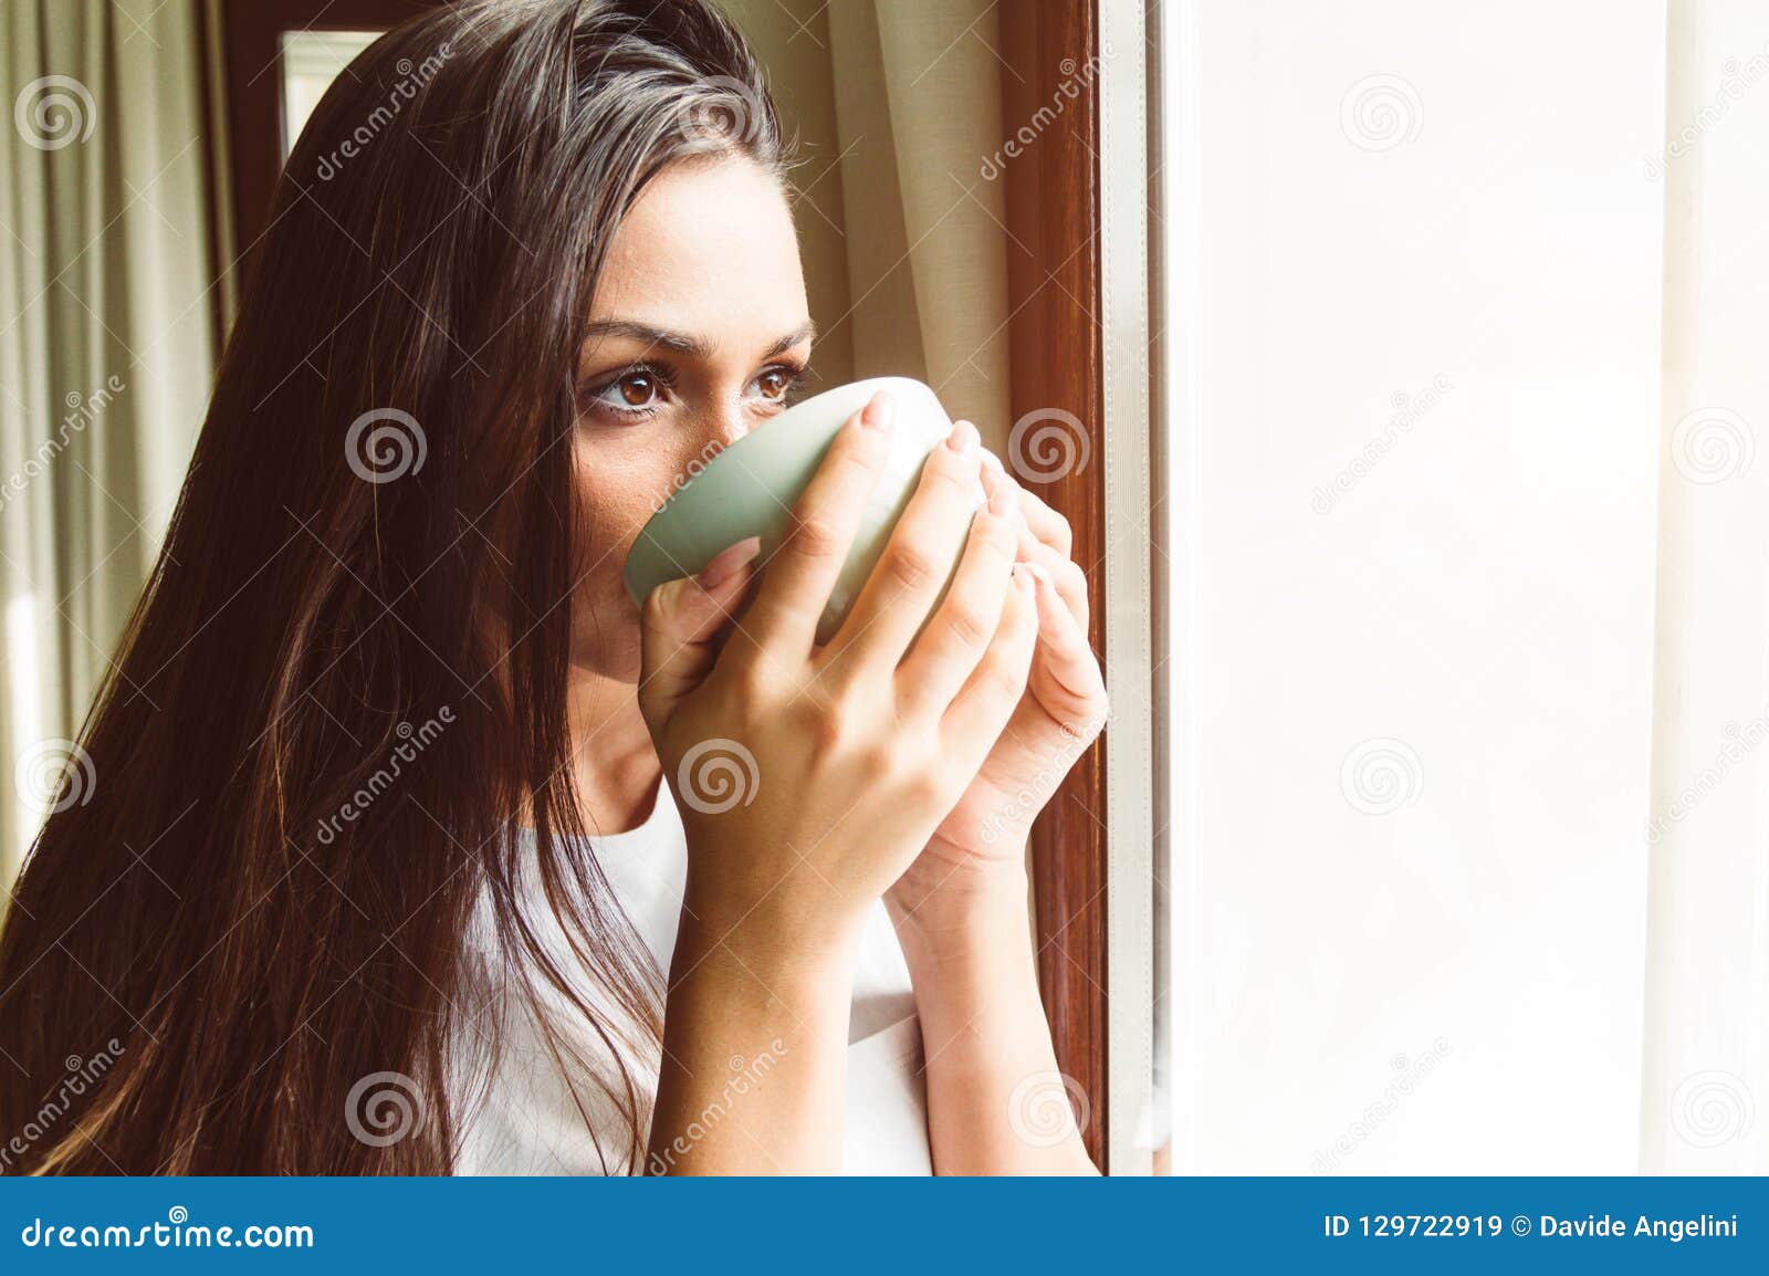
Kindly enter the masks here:
<path id="1" fill-rule="evenodd" d="M 892 888 L 899 915 L 991 890 L 996 881 L 1024 890 L 1031 821 L 1106 726 L 1106 680 L 1088 644 L 1088 582 L 1068 556 L 1068 522 L 1019 487 L 992 453 L 984 460 L 984 488 L 992 494 L 1007 485 L 1017 496 L 1019 557 L 1038 582 L 1038 648 L 1007 729 Z"/>

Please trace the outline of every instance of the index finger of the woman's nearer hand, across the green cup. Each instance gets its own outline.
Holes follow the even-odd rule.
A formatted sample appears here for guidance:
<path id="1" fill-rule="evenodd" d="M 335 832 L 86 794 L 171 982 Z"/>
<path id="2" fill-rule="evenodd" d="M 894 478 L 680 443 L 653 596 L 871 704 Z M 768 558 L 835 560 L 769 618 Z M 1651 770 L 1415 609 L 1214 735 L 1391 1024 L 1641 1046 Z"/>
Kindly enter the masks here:
<path id="1" fill-rule="evenodd" d="M 810 651 L 817 618 L 830 602 L 890 455 L 895 416 L 890 391 L 881 389 L 837 432 L 793 508 L 780 549 L 768 559 L 768 575 L 743 625 L 755 644 Z"/>

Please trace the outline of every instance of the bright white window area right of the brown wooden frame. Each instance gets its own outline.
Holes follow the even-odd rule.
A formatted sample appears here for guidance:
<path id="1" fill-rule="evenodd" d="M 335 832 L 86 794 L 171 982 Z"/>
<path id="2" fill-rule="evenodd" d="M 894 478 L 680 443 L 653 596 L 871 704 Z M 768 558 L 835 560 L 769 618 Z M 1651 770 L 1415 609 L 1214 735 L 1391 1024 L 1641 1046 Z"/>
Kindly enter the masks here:
<path id="1" fill-rule="evenodd" d="M 1180 1170 L 1765 1165 L 1769 14 L 1679 14 L 1164 5 Z"/>

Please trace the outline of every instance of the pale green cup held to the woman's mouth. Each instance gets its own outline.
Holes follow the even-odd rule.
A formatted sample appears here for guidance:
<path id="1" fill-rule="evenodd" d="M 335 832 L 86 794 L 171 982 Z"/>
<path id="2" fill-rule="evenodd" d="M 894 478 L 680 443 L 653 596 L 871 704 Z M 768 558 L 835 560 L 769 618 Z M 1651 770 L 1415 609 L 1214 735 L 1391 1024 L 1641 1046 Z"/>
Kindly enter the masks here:
<path id="1" fill-rule="evenodd" d="M 840 628 L 860 596 L 860 586 L 884 552 L 892 527 L 915 494 L 922 464 L 952 432 L 946 409 L 920 380 L 874 377 L 828 389 L 794 404 L 732 442 L 697 473 L 683 476 L 626 556 L 623 575 L 633 600 L 644 602 L 665 580 L 695 575 L 715 554 L 747 536 L 761 536 L 757 561 L 766 570 L 787 531 L 789 511 L 835 434 L 881 389 L 890 389 L 897 405 L 892 450 L 862 513 L 847 563 L 842 565 L 840 579 L 817 623 L 817 641 L 826 642 Z M 980 483 L 975 504 L 984 504 Z M 952 556 L 948 580 L 957 565 L 959 550 Z"/>

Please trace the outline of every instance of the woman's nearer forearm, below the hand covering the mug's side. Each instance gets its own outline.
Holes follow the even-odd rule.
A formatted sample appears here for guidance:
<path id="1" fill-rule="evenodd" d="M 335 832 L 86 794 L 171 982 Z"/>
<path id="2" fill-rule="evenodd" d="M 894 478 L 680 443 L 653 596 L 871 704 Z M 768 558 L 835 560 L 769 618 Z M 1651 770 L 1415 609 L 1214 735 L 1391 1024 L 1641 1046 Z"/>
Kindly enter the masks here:
<path id="1" fill-rule="evenodd" d="M 757 943 L 685 913 L 649 1173 L 839 1173 L 853 954 Z"/>

